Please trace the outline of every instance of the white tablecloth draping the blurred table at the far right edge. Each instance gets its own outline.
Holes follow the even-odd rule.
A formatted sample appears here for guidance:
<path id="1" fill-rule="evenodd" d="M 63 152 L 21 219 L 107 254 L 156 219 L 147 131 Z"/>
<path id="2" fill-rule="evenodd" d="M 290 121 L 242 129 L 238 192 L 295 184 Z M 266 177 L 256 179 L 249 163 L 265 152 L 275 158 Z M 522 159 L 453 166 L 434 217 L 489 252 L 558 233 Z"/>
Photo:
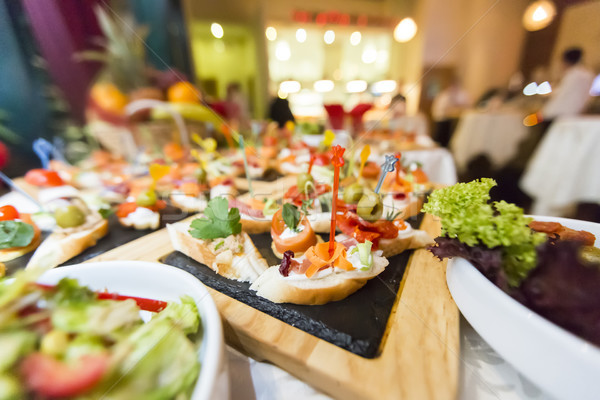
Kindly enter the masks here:
<path id="1" fill-rule="evenodd" d="M 600 203 L 600 117 L 556 120 L 520 182 L 532 214 L 561 216 L 578 202 Z"/>

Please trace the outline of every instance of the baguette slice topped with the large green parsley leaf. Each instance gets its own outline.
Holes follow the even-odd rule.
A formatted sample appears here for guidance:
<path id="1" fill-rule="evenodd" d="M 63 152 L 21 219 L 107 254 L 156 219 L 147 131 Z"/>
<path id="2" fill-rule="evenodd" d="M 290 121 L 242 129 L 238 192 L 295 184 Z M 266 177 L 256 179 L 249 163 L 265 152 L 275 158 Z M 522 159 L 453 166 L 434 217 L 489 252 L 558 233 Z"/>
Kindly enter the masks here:
<path id="1" fill-rule="evenodd" d="M 246 232 L 240 233 L 244 246 L 241 254 L 233 255 L 230 260 L 223 260 L 217 259 L 204 240 L 193 238 L 189 234 L 190 224 L 191 221 L 167 224 L 173 248 L 206 265 L 217 274 L 241 282 L 253 282 L 269 267 Z"/>

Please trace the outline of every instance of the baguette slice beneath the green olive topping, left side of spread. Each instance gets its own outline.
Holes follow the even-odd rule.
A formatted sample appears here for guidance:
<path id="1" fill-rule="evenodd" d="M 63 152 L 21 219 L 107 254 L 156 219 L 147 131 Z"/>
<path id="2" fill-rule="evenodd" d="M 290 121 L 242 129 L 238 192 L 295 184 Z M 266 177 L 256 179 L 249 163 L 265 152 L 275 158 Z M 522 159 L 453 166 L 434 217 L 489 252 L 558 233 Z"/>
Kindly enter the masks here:
<path id="1" fill-rule="evenodd" d="M 108 221 L 104 218 L 69 233 L 54 232 L 33 253 L 26 268 L 54 268 L 94 246 L 107 232 Z"/>

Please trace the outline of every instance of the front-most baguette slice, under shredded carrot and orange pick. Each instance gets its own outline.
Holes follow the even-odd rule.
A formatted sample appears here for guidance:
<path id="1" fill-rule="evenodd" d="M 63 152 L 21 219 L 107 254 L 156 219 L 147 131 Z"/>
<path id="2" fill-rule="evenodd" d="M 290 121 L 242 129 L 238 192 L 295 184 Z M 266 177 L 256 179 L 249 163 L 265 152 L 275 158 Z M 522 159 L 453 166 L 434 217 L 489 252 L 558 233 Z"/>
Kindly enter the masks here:
<path id="1" fill-rule="evenodd" d="M 320 305 L 345 299 L 362 288 L 369 279 L 382 273 L 388 265 L 384 257 L 373 257 L 370 271 L 354 270 L 332 273 L 319 279 L 290 279 L 279 273 L 279 266 L 270 267 L 251 286 L 256 294 L 273 303 Z"/>

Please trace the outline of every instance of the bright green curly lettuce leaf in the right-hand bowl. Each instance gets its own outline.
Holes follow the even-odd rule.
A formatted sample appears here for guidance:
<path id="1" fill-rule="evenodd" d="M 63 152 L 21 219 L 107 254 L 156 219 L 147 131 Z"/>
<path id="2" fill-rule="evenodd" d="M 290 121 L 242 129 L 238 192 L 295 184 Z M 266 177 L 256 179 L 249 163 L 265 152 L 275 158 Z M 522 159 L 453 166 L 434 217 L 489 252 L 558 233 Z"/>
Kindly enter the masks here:
<path id="1" fill-rule="evenodd" d="M 482 178 L 434 191 L 423 211 L 439 217 L 442 236 L 471 246 L 502 250 L 503 269 L 508 283 L 518 286 L 536 266 L 535 248 L 546 235 L 529 229 L 531 218 L 505 201 L 490 202 L 496 181 Z"/>

